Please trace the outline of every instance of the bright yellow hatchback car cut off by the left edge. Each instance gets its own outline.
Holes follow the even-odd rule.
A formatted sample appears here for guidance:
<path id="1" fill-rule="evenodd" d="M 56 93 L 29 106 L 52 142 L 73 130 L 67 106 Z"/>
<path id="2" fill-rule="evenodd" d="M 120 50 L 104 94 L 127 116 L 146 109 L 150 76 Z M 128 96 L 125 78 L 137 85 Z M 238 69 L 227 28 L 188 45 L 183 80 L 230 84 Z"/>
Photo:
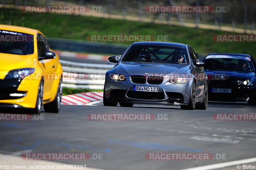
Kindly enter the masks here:
<path id="1" fill-rule="evenodd" d="M 62 68 L 59 57 L 36 29 L 0 25 L 0 107 L 40 114 L 59 112 Z"/>

